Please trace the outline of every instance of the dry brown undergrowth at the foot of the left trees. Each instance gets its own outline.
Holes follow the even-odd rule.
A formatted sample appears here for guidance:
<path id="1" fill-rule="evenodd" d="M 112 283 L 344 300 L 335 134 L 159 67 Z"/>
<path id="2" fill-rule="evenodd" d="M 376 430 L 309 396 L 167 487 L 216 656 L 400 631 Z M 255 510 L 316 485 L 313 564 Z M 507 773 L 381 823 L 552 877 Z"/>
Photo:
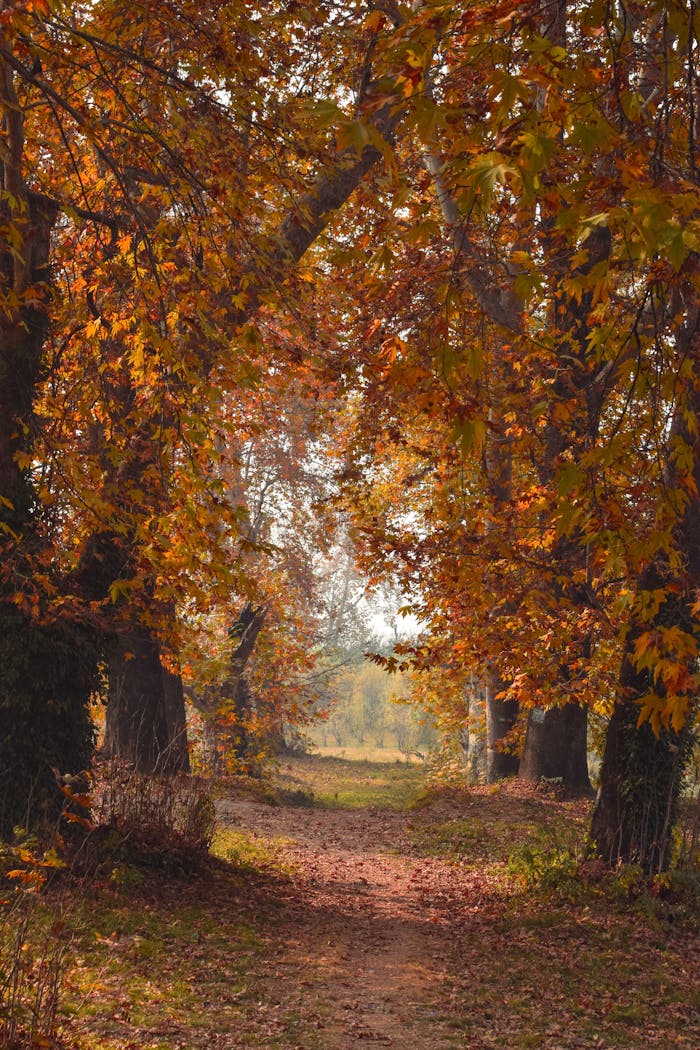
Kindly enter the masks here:
<path id="1" fill-rule="evenodd" d="M 55 1045 L 81 898 L 133 887 L 145 868 L 191 870 L 210 857 L 214 805 L 204 782 L 111 766 L 60 778 L 60 821 L 0 844 L 0 1046 Z"/>

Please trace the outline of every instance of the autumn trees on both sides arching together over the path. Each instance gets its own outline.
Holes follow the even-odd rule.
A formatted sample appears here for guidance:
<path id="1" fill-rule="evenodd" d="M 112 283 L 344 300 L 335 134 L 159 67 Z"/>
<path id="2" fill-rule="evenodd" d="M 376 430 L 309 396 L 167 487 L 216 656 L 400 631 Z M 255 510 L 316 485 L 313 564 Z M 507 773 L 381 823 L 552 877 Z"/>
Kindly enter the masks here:
<path id="1" fill-rule="evenodd" d="M 184 653 L 237 726 L 266 630 L 309 659 L 335 460 L 366 571 L 429 626 L 406 655 L 483 688 L 491 775 L 518 709 L 546 746 L 602 704 L 594 839 L 667 863 L 697 49 L 681 0 L 4 5 L 4 833 L 88 763 L 101 675 L 111 749 L 174 771 Z"/>

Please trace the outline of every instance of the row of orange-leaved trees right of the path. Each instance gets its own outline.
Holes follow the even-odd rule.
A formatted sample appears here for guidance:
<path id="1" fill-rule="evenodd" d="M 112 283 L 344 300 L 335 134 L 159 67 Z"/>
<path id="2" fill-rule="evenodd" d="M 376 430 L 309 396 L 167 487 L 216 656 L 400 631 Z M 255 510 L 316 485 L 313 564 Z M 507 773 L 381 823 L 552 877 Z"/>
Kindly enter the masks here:
<path id="1" fill-rule="evenodd" d="M 431 626 L 413 663 L 479 684 L 491 777 L 518 710 L 574 783 L 611 715 L 593 838 L 656 869 L 697 684 L 695 9 L 387 17 L 418 192 L 354 332 L 365 564 Z"/>

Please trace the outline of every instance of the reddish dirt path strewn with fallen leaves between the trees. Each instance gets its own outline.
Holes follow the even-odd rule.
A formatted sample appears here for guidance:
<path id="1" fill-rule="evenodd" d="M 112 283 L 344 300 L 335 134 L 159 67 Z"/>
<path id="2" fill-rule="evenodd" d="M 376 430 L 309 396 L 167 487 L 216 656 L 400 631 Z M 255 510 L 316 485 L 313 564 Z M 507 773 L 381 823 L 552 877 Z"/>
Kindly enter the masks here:
<path id="1" fill-rule="evenodd" d="M 221 818 L 284 839 L 297 873 L 269 980 L 285 989 L 273 1009 L 288 1025 L 298 1011 L 298 1047 L 464 1045 L 449 1027 L 449 981 L 476 886 L 444 862 L 406 856 L 404 814 L 227 801 Z"/>

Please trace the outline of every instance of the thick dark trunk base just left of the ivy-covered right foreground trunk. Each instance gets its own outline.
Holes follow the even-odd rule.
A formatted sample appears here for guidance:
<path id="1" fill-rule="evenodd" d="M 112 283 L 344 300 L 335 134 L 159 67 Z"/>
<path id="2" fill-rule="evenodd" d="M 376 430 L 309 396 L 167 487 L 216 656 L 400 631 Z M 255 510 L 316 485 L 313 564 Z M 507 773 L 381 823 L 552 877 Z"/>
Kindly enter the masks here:
<path id="1" fill-rule="evenodd" d="M 560 782 L 568 794 L 592 793 L 588 774 L 588 712 L 578 704 L 534 708 L 528 716 L 518 777 Z"/>

